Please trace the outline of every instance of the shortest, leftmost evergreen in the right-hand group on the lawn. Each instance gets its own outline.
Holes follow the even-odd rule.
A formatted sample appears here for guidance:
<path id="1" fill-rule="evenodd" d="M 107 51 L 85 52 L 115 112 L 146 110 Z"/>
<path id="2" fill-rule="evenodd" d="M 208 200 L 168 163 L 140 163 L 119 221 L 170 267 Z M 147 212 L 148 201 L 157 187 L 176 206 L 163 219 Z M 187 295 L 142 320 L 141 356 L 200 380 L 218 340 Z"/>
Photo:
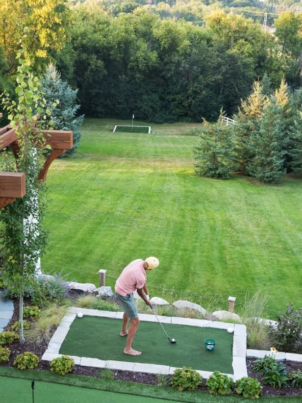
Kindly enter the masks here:
<path id="1" fill-rule="evenodd" d="M 229 179 L 235 168 L 231 126 L 222 123 L 221 116 L 216 124 L 204 121 L 203 125 L 199 143 L 193 149 L 195 172 L 200 176 Z"/>

